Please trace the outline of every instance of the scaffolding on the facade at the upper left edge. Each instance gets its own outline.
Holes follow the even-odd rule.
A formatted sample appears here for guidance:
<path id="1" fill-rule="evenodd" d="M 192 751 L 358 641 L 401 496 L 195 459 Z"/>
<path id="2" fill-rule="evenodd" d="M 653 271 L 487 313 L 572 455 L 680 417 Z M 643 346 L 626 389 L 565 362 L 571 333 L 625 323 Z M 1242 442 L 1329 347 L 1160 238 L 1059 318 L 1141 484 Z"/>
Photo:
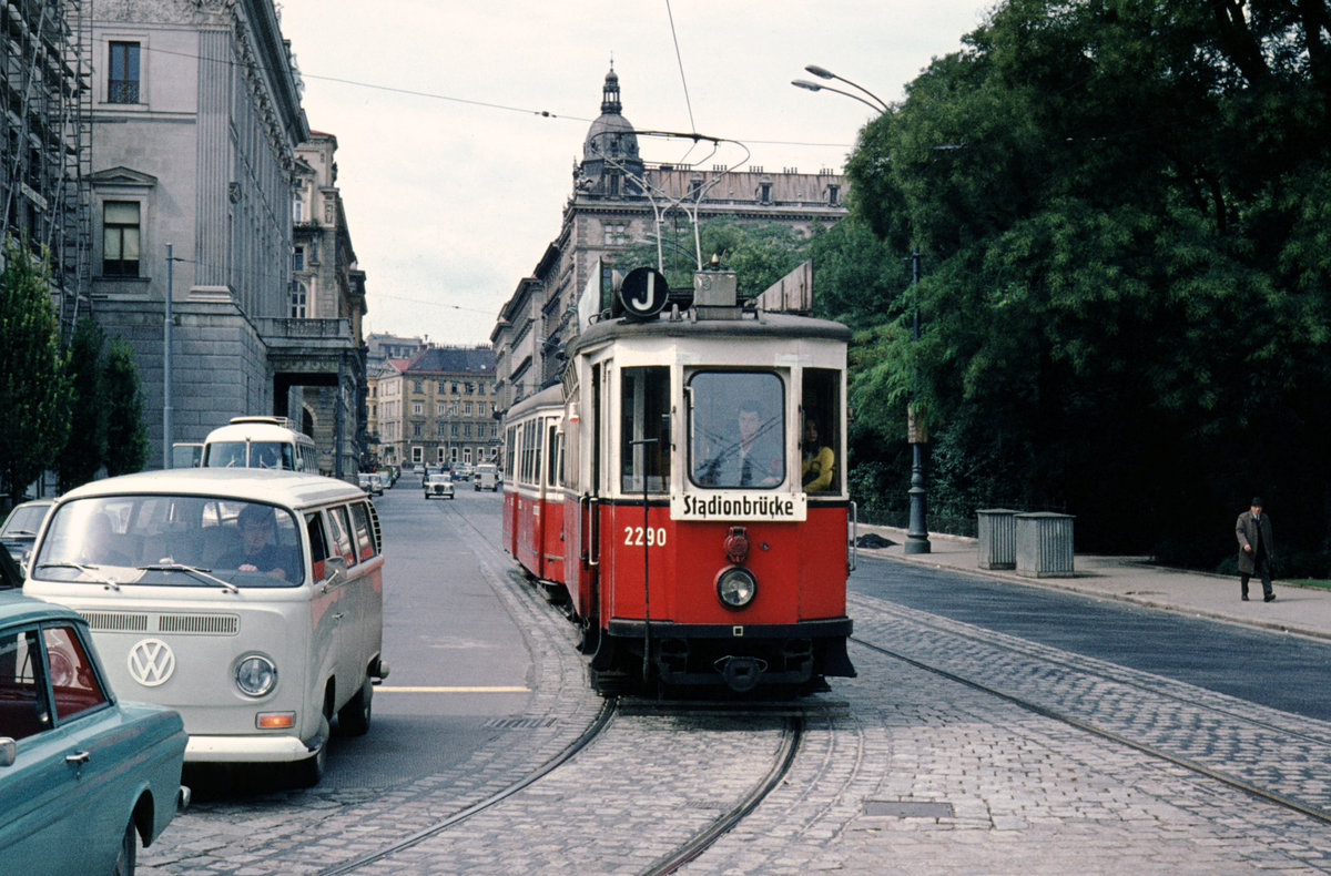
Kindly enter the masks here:
<path id="1" fill-rule="evenodd" d="M 51 264 L 68 338 L 92 278 L 93 0 L 0 0 L 0 240 Z"/>

